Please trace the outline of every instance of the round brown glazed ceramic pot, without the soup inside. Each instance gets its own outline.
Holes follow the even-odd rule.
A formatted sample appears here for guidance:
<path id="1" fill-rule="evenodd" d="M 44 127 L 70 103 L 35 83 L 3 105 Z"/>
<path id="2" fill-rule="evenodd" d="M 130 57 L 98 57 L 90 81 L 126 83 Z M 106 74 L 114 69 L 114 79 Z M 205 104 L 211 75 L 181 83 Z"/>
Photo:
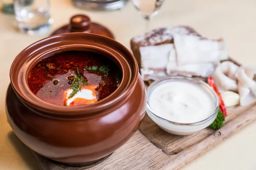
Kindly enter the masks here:
<path id="1" fill-rule="evenodd" d="M 87 106 L 45 102 L 30 91 L 32 67 L 49 55 L 69 50 L 93 51 L 122 70 L 120 86 L 110 96 Z M 138 65 L 119 42 L 96 34 L 69 33 L 29 45 L 15 58 L 6 95 L 6 114 L 18 138 L 35 152 L 69 164 L 101 160 L 127 142 L 145 114 L 146 92 Z"/>

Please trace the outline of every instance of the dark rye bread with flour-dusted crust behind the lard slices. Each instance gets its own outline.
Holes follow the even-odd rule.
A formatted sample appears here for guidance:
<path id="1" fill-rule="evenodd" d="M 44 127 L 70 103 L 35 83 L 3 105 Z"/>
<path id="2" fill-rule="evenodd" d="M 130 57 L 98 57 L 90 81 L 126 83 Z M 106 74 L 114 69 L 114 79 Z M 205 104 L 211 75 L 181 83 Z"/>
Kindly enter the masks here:
<path id="1" fill-rule="evenodd" d="M 189 26 L 171 26 L 157 28 L 133 37 L 131 39 L 131 50 L 138 62 L 139 68 L 141 68 L 140 47 L 173 43 L 173 34 L 194 34 L 201 36 Z"/>

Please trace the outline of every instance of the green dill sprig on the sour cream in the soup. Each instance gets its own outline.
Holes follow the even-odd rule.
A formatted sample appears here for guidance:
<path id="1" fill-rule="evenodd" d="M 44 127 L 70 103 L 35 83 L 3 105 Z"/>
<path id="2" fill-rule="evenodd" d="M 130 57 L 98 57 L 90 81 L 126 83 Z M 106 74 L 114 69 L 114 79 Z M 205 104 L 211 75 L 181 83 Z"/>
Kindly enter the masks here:
<path id="1" fill-rule="evenodd" d="M 77 68 L 77 71 L 76 71 L 76 76 L 75 77 L 72 77 L 70 79 L 70 82 L 71 82 L 71 88 L 73 91 L 72 93 L 68 96 L 68 98 L 72 98 L 73 96 L 75 96 L 75 94 L 77 94 L 77 92 L 81 91 L 81 85 L 87 85 L 89 86 L 90 84 L 88 82 L 86 82 L 84 80 L 84 77 L 82 77 L 80 74 L 79 74 L 79 69 Z"/>

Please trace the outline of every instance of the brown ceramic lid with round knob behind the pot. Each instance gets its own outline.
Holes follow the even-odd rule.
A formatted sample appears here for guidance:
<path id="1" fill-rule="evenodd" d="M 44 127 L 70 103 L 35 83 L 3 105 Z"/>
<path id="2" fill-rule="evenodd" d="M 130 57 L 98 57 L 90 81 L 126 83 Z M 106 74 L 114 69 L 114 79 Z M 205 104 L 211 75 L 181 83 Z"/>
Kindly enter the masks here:
<path id="1" fill-rule="evenodd" d="M 98 23 L 92 23 L 88 16 L 81 14 L 71 17 L 69 24 L 58 28 L 51 36 L 70 32 L 93 33 L 114 39 L 112 32 L 108 28 Z"/>

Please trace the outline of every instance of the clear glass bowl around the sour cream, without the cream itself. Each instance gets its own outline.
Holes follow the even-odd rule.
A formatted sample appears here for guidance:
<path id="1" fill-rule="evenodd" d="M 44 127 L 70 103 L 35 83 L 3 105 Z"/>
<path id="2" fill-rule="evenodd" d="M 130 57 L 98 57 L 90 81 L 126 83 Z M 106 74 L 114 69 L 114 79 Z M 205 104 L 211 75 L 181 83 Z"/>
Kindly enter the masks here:
<path id="1" fill-rule="evenodd" d="M 172 81 L 189 82 L 191 84 L 198 85 L 201 88 L 203 88 L 205 91 L 207 91 L 207 93 L 209 93 L 209 96 L 212 97 L 212 101 L 213 101 L 213 105 L 214 105 L 212 114 L 208 118 L 201 120 L 199 122 L 194 122 L 194 123 L 172 122 L 170 120 L 167 120 L 167 119 L 164 119 L 164 118 L 158 116 L 157 113 L 155 113 L 149 105 L 150 95 L 151 95 L 152 91 L 154 91 L 154 89 L 157 86 L 162 85 L 163 83 L 172 82 Z M 215 93 L 215 91 L 207 83 L 203 82 L 202 80 L 192 78 L 192 77 L 185 77 L 185 76 L 170 76 L 170 77 L 165 77 L 163 79 L 159 79 L 159 80 L 153 82 L 147 89 L 147 101 L 148 102 L 147 102 L 146 111 L 147 111 L 148 116 L 160 128 L 162 128 L 163 130 L 165 130 L 168 133 L 172 133 L 175 135 L 189 135 L 189 134 L 195 133 L 199 130 L 202 130 L 202 129 L 208 127 L 215 120 L 215 118 L 218 114 L 218 110 L 219 110 L 219 99 L 218 99 L 218 96 Z"/>

